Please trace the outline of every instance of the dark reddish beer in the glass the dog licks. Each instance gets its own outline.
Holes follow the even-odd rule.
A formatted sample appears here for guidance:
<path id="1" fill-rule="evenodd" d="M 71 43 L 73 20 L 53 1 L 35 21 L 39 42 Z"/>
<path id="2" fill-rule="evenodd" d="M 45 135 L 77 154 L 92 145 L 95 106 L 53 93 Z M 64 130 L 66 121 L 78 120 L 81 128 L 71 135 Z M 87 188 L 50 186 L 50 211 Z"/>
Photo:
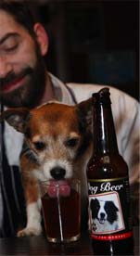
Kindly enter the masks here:
<path id="1" fill-rule="evenodd" d="M 76 185 L 79 189 L 79 184 Z M 64 186 L 63 186 L 64 187 Z M 69 193 L 53 187 L 42 197 L 46 237 L 51 242 L 75 241 L 80 237 L 80 193 L 71 188 Z"/>

